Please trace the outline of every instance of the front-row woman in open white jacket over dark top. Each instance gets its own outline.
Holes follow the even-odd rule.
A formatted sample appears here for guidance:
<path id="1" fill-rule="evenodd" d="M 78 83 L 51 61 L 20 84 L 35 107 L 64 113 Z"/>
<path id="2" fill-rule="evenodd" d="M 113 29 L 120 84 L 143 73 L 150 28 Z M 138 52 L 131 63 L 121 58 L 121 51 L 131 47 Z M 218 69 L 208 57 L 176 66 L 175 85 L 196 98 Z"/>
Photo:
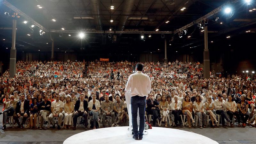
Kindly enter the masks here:
<path id="1" fill-rule="evenodd" d="M 99 115 L 100 115 L 100 101 L 96 100 L 96 95 L 92 95 L 92 100 L 88 103 L 88 110 L 90 116 L 93 117 L 93 129 L 96 129 L 97 121 L 100 122 Z"/>

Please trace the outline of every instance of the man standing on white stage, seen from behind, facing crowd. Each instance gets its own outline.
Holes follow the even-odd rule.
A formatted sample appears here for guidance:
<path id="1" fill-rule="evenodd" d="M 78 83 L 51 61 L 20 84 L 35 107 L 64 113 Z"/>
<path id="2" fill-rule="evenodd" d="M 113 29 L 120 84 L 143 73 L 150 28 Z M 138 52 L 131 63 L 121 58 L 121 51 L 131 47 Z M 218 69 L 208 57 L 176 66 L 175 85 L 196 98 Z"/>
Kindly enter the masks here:
<path id="1" fill-rule="evenodd" d="M 142 140 L 145 127 L 146 97 L 151 91 L 151 83 L 148 75 L 142 73 L 143 64 L 137 63 L 136 73 L 129 76 L 125 91 L 131 92 L 132 128 L 133 139 Z M 140 129 L 138 132 L 137 112 L 139 108 Z"/>

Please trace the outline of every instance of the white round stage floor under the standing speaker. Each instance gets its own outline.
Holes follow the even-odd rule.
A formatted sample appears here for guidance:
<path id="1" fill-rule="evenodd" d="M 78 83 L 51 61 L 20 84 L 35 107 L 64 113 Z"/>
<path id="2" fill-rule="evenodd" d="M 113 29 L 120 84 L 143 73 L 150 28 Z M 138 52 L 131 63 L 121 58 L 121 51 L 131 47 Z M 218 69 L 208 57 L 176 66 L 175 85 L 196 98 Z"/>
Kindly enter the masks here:
<path id="1" fill-rule="evenodd" d="M 109 128 L 100 128 L 90 131 L 85 131 L 77 133 L 68 139 L 66 139 L 63 144 L 113 144 L 113 143 L 172 143 L 172 144 L 218 144 L 216 141 L 207 138 L 203 135 L 196 134 L 193 132 L 187 132 L 171 128 L 161 128 L 153 127 L 153 129 L 145 130 L 148 132 L 148 135 L 143 135 L 142 140 L 132 139 L 132 135 L 127 130 L 128 126 L 123 127 L 109 127 Z"/>

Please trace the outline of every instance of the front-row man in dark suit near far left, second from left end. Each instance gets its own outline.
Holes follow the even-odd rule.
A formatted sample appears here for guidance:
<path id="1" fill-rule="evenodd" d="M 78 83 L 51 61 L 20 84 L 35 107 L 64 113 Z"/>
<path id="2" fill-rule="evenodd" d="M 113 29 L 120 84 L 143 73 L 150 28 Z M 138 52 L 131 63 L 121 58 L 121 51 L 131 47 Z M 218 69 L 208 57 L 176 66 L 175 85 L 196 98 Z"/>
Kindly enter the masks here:
<path id="1" fill-rule="evenodd" d="M 18 127 L 23 128 L 23 124 L 25 124 L 28 115 L 29 115 L 29 100 L 25 100 L 25 94 L 21 94 L 20 101 L 17 102 L 17 107 L 15 110 L 15 114 L 13 115 L 14 121 L 18 124 Z M 19 118 L 23 116 L 22 122 L 20 124 Z"/>

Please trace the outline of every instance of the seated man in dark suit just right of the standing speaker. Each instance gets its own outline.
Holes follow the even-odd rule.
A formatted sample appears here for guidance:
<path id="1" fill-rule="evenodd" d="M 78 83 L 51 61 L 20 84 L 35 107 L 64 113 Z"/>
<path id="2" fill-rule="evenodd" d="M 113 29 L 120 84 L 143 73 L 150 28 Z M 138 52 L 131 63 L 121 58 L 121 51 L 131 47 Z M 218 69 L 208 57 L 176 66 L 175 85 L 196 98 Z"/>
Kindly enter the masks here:
<path id="1" fill-rule="evenodd" d="M 153 126 L 156 125 L 156 118 L 161 121 L 161 118 L 159 118 L 159 108 L 158 108 L 159 103 L 157 100 L 154 99 L 153 93 L 149 94 L 149 99 L 147 100 L 147 114 L 148 115 L 153 115 Z"/>

